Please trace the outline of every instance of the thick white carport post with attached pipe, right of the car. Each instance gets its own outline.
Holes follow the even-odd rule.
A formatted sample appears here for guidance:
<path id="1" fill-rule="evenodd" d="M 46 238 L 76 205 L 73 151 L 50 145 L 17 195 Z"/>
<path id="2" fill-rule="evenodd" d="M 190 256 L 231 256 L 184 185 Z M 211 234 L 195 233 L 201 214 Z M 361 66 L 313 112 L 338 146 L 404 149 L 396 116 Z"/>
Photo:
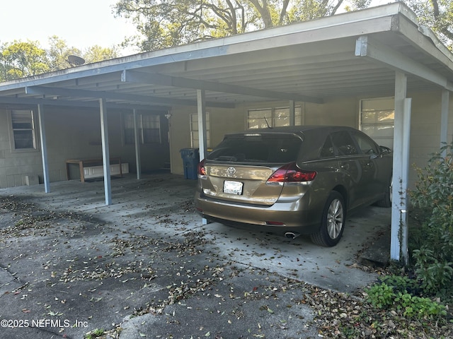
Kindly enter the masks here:
<path id="1" fill-rule="evenodd" d="M 390 258 L 408 263 L 408 175 L 411 99 L 406 74 L 395 73 L 394 168 L 391 203 Z"/>

